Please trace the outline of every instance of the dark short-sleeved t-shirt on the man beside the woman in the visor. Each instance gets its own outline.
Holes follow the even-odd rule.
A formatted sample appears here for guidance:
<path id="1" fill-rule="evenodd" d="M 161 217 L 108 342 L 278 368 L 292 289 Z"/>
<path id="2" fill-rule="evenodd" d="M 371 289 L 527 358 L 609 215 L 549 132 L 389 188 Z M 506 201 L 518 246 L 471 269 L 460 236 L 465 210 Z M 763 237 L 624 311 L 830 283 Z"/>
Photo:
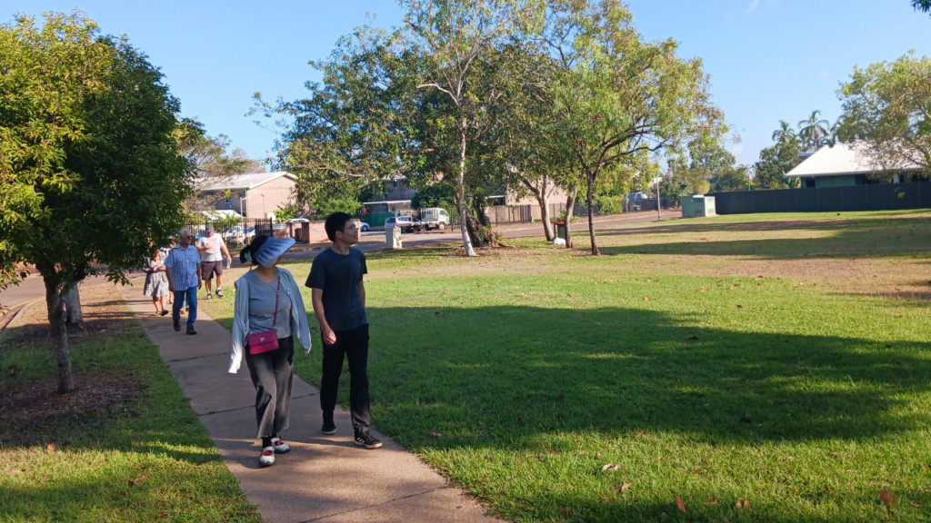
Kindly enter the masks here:
<path id="1" fill-rule="evenodd" d="M 365 254 L 349 248 L 343 255 L 328 248 L 317 255 L 310 267 L 306 285 L 323 290 L 323 315 L 333 330 L 350 330 L 369 323 L 358 284 L 369 274 Z"/>

